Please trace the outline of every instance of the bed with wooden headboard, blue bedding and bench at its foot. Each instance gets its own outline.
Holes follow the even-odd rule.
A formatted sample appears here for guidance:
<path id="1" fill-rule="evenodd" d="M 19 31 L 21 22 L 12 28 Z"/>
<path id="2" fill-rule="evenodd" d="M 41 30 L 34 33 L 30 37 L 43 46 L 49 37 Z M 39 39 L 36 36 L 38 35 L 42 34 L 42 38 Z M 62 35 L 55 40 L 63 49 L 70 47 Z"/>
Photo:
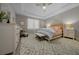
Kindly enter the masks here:
<path id="1" fill-rule="evenodd" d="M 41 28 L 35 33 L 36 38 L 40 40 L 52 40 L 63 36 L 63 25 L 55 24 L 49 28 Z"/>

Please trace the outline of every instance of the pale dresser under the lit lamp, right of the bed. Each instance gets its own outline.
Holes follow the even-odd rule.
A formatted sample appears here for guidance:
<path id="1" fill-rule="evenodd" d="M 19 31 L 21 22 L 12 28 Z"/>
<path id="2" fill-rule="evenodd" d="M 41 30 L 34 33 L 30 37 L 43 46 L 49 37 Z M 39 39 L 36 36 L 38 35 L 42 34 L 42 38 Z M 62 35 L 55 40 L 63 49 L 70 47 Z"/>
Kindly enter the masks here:
<path id="1" fill-rule="evenodd" d="M 63 30 L 63 36 L 74 39 L 75 38 L 74 29 L 64 29 Z"/>

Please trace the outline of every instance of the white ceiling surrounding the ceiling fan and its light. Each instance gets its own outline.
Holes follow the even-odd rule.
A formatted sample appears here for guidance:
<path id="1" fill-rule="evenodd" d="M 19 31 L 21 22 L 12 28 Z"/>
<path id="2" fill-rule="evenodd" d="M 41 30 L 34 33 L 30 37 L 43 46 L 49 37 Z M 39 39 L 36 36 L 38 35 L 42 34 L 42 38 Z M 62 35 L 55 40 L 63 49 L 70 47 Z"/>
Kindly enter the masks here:
<path id="1" fill-rule="evenodd" d="M 77 7 L 79 4 L 75 3 L 52 3 L 47 6 L 46 11 L 44 11 L 41 6 L 37 6 L 36 3 L 18 3 L 13 4 L 16 14 L 22 14 L 25 16 L 47 19 L 55 16 L 64 11 L 70 10 Z"/>

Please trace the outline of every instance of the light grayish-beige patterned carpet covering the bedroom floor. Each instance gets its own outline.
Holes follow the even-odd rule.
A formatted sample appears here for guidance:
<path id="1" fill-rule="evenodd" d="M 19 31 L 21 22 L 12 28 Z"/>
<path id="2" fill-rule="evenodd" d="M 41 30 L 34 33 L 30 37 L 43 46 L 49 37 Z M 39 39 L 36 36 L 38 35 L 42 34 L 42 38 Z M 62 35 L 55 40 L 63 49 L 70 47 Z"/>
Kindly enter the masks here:
<path id="1" fill-rule="evenodd" d="M 79 55 L 79 42 L 67 38 L 38 41 L 34 34 L 21 39 L 21 55 Z"/>

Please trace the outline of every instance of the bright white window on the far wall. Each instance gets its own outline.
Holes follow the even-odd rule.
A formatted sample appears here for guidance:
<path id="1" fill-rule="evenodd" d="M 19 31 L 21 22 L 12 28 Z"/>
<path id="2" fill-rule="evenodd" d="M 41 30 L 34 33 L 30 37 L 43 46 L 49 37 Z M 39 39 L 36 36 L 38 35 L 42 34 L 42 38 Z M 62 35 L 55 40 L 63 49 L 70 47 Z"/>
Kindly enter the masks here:
<path id="1" fill-rule="evenodd" d="M 39 20 L 28 18 L 28 29 L 39 29 Z"/>

